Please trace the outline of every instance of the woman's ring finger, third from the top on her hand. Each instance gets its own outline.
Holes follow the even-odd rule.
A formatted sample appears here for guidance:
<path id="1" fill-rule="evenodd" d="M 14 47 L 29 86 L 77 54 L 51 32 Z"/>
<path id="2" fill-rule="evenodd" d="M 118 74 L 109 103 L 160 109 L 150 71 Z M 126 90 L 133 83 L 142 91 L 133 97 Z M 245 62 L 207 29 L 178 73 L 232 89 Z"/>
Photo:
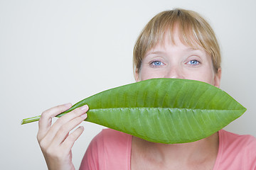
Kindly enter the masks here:
<path id="1" fill-rule="evenodd" d="M 71 130 L 73 130 L 75 127 L 77 127 L 80 123 L 82 123 L 83 120 L 87 118 L 87 114 L 82 114 L 78 118 L 74 118 L 73 120 L 70 120 L 68 123 L 60 127 L 60 130 L 56 133 L 52 145 L 58 146 L 60 145 L 64 140 L 66 140 L 68 137 L 66 135 L 69 134 Z"/>

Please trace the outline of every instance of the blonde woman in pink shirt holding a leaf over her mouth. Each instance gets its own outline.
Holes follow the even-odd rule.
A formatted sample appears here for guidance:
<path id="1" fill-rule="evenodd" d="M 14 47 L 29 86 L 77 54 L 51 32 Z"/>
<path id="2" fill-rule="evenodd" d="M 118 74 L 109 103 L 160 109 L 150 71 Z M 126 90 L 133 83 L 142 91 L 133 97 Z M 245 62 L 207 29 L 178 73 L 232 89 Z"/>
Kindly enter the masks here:
<path id="1" fill-rule="evenodd" d="M 178 78 L 220 86 L 220 49 L 212 28 L 193 11 L 174 9 L 149 21 L 134 47 L 136 81 Z M 39 121 L 38 142 L 49 169 L 74 169 L 71 148 L 88 106 L 51 126 L 71 104 L 50 108 Z M 256 139 L 220 130 L 196 142 L 166 145 L 123 132 L 102 130 L 90 143 L 80 169 L 256 169 Z"/>

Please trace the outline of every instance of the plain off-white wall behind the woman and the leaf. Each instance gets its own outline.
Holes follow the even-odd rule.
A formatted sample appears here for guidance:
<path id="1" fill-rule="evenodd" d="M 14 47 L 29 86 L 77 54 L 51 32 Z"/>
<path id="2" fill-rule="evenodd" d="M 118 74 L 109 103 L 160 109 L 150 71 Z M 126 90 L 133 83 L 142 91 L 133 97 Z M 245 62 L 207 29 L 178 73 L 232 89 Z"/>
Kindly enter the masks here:
<path id="1" fill-rule="evenodd" d="M 23 118 L 62 103 L 134 82 L 132 50 L 160 11 L 187 8 L 213 26 L 223 54 L 221 89 L 247 108 L 226 130 L 256 136 L 256 4 L 243 1 L 0 1 L 1 169 L 46 169 L 38 123 Z M 92 137 L 85 127 L 73 147 L 78 169 Z"/>

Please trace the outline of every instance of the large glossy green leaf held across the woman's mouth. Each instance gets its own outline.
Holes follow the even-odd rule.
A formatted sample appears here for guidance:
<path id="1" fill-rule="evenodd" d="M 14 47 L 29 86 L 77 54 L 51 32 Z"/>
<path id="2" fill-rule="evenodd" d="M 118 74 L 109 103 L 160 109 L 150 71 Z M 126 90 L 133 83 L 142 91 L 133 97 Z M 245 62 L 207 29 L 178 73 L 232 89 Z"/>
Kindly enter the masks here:
<path id="1" fill-rule="evenodd" d="M 87 104 L 86 121 L 166 144 L 194 142 L 212 135 L 246 111 L 215 86 L 188 79 L 149 79 L 102 91 Z"/>

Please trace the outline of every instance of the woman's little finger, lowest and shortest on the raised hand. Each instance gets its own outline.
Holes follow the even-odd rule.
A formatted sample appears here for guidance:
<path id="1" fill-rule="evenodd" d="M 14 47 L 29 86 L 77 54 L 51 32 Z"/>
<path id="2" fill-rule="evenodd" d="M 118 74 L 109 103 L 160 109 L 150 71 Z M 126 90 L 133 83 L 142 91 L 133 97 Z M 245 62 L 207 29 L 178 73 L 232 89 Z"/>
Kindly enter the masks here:
<path id="1" fill-rule="evenodd" d="M 83 131 L 84 131 L 84 128 L 82 126 L 80 126 L 74 132 L 70 133 L 70 135 L 68 135 L 67 139 L 61 144 L 61 147 L 67 149 L 67 151 L 70 151 L 72 149 L 75 141 L 78 140 L 78 137 L 80 137 L 80 135 L 82 135 Z"/>

